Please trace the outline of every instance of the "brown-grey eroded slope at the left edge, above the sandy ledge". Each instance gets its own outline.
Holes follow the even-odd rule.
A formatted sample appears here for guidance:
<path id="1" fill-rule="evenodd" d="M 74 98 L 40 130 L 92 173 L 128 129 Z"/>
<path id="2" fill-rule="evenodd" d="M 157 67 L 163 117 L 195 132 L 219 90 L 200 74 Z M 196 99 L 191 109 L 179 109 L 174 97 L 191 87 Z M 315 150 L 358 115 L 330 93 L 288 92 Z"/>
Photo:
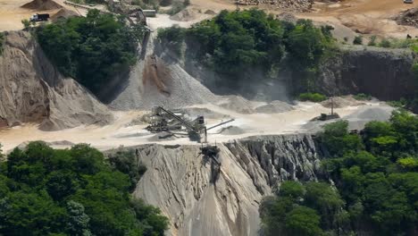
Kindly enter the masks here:
<path id="1" fill-rule="evenodd" d="M 0 127 L 38 122 L 40 129 L 52 131 L 113 120 L 105 105 L 77 81 L 64 78 L 23 31 L 6 33 L 0 101 Z"/>

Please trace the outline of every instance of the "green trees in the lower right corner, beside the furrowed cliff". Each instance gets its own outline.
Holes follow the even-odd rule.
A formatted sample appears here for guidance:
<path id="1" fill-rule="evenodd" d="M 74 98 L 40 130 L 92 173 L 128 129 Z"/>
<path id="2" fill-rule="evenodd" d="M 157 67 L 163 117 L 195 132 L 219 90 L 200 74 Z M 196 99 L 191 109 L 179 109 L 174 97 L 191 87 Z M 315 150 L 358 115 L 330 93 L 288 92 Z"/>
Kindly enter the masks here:
<path id="1" fill-rule="evenodd" d="M 352 134 L 347 122 L 325 126 L 319 141 L 335 187 L 282 183 L 260 208 L 265 235 L 413 235 L 418 225 L 418 117 L 395 112 Z"/>

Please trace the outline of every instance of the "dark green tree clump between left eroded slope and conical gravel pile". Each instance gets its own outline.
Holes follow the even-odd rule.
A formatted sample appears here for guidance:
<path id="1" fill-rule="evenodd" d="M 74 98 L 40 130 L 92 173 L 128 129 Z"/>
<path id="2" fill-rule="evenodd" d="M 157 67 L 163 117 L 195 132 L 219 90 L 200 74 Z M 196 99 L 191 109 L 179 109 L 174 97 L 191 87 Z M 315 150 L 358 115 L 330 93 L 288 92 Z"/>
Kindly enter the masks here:
<path id="1" fill-rule="evenodd" d="M 38 42 L 60 72 L 94 93 L 136 62 L 140 27 L 129 27 L 112 14 L 88 12 L 47 24 L 36 31 Z"/>

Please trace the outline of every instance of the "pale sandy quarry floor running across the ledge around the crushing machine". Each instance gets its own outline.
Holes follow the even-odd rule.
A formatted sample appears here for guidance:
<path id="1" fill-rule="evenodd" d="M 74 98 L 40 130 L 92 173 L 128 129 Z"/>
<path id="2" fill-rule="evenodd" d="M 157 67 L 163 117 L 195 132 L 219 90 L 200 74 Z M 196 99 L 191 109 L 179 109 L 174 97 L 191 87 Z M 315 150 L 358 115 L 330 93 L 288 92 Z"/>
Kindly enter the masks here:
<path id="1" fill-rule="evenodd" d="M 225 117 L 235 118 L 227 126 L 237 127 L 240 133 L 221 133 L 222 128 L 208 131 L 209 142 L 224 142 L 231 139 L 240 139 L 255 135 L 283 134 L 305 132 L 304 125 L 315 116 L 321 113 L 329 113 L 330 109 L 319 104 L 299 103 L 293 110 L 278 114 L 238 114 L 217 105 L 193 105 L 193 107 L 206 108 L 217 114 L 224 114 Z M 369 107 L 388 107 L 380 103 L 367 105 L 355 105 L 337 108 L 335 111 L 341 116 L 355 114 Z M 161 143 L 166 145 L 191 144 L 199 145 L 196 141 L 190 141 L 188 138 L 180 139 L 158 139 L 156 134 L 145 130 L 146 124 L 130 125 L 133 119 L 138 118 L 145 112 L 130 111 L 115 113 L 116 121 L 104 127 L 79 126 L 77 128 L 63 131 L 40 131 L 38 125 L 24 124 L 22 126 L 0 130 L 0 143 L 4 146 L 5 152 L 11 151 L 21 143 L 44 140 L 46 142 L 89 143 L 93 147 L 101 150 L 110 149 L 119 146 L 135 146 L 146 143 Z M 222 119 L 206 119 L 207 127 L 222 122 Z M 234 129 L 234 128 L 233 128 Z M 68 142 L 64 145 L 53 145 L 53 147 L 69 147 Z"/>

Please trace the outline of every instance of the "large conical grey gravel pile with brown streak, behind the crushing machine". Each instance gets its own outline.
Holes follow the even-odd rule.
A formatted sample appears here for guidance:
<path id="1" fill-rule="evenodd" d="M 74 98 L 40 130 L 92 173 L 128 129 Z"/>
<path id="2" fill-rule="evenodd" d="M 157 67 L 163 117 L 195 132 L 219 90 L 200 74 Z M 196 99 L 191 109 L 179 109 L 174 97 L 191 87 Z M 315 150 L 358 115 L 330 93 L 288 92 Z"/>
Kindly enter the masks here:
<path id="1" fill-rule="evenodd" d="M 146 55 L 150 59 L 138 60 L 128 80 L 121 83 L 121 90 L 113 91 L 109 102 L 113 109 L 151 109 L 155 105 L 181 108 L 217 100 L 209 89 L 184 71 L 180 63 L 154 56 L 154 35 L 148 40 Z"/>

